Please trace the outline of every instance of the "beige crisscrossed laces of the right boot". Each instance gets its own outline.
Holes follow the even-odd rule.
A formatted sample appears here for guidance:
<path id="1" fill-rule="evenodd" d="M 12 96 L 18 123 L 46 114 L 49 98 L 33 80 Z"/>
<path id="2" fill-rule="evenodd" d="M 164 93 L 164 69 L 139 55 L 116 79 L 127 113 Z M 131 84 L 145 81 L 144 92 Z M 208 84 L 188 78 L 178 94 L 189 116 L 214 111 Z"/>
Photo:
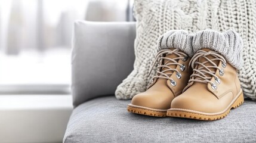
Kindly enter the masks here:
<path id="1" fill-rule="evenodd" d="M 214 58 L 209 59 L 208 55 L 212 55 Z M 206 59 L 206 61 L 200 63 L 198 61 L 199 57 L 203 57 Z M 191 82 L 201 82 L 201 83 L 211 83 L 212 89 L 217 89 L 217 84 L 220 84 L 220 78 L 215 74 L 216 70 L 218 69 L 220 72 L 220 76 L 223 76 L 224 74 L 224 70 L 221 69 L 220 67 L 218 67 L 217 64 L 214 63 L 214 61 L 221 61 L 222 62 L 222 66 L 226 67 L 226 60 L 225 58 L 218 54 L 218 52 L 215 51 L 203 51 L 203 50 L 199 50 L 190 60 L 189 62 L 189 66 L 192 67 L 193 69 L 193 74 L 190 76 L 190 80 L 189 83 Z M 211 66 L 205 66 L 206 63 L 211 63 Z M 199 67 L 197 69 L 195 69 L 196 65 Z M 211 69 L 216 69 L 216 70 L 211 70 Z M 210 75 L 210 76 L 206 76 L 206 74 Z M 215 83 L 211 81 L 212 76 L 215 78 Z M 190 86 L 190 84 L 188 86 L 185 87 L 184 91 Z"/>

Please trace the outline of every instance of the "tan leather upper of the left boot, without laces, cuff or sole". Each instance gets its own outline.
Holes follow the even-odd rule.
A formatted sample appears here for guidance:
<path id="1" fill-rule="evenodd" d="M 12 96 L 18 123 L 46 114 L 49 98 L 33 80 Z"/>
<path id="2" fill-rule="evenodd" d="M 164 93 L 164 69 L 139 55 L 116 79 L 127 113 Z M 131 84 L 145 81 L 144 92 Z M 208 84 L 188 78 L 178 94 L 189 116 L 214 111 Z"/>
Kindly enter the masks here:
<path id="1" fill-rule="evenodd" d="M 177 57 L 177 55 L 172 54 L 166 57 L 175 58 Z M 168 79 L 155 79 L 153 80 L 151 85 L 149 85 L 147 91 L 142 92 L 141 94 L 137 94 L 132 98 L 131 104 L 159 110 L 168 110 L 170 108 L 171 101 L 174 99 L 174 97 L 182 93 L 183 88 L 187 85 L 187 82 L 189 81 L 189 76 L 192 73 L 192 69 L 189 68 L 189 61 L 190 58 L 188 58 L 186 61 L 178 60 L 178 63 L 184 64 L 186 66 L 186 69 L 184 71 L 180 70 L 180 66 L 170 66 L 172 69 L 177 69 L 181 73 L 180 79 L 176 77 L 175 71 L 171 75 L 172 79 L 174 79 L 177 83 L 176 86 L 172 86 L 170 80 Z M 164 63 L 166 63 L 165 60 Z M 163 71 L 165 70 L 165 68 L 160 70 Z"/>

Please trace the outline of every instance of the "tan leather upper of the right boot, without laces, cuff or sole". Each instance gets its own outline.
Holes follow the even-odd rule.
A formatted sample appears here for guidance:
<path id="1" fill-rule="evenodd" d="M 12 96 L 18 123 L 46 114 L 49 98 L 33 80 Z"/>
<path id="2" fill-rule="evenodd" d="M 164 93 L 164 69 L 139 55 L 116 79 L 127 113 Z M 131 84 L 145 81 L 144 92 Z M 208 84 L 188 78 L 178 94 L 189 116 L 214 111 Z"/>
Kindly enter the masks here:
<path id="1" fill-rule="evenodd" d="M 206 57 L 212 58 L 211 55 Z M 203 62 L 205 58 L 199 58 L 199 61 Z M 212 82 L 216 83 L 217 89 L 212 89 L 211 83 L 192 82 L 183 94 L 172 101 L 172 109 L 178 108 L 203 113 L 218 113 L 230 105 L 230 102 L 237 97 L 241 90 L 238 74 L 236 69 L 229 63 L 226 63 L 226 67 L 222 66 L 221 61 L 214 61 L 214 63 L 221 69 L 224 69 L 223 76 L 220 76 L 219 70 L 216 70 L 215 73 L 220 78 L 220 84 L 215 82 L 214 77 L 211 79 Z"/>

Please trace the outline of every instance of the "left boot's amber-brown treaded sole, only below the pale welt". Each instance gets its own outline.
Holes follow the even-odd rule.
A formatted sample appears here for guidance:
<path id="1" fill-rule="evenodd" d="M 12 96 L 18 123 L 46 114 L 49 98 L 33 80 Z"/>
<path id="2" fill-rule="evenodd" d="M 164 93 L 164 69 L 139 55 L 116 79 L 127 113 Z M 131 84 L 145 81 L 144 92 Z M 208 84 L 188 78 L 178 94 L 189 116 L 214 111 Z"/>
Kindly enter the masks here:
<path id="1" fill-rule="evenodd" d="M 155 111 L 155 110 L 149 110 L 139 107 L 131 107 L 128 105 L 127 111 L 135 114 L 143 114 L 146 116 L 153 116 L 153 117 L 166 117 L 166 111 Z"/>

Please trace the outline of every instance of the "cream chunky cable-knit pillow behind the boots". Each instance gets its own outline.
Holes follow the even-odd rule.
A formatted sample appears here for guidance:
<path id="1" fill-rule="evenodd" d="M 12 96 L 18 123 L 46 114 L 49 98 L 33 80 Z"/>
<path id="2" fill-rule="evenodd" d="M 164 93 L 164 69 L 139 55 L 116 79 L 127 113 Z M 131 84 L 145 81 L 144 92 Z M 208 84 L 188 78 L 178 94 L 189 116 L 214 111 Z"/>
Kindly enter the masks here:
<path id="1" fill-rule="evenodd" d="M 156 71 L 154 67 L 147 76 L 157 51 L 157 41 L 165 32 L 233 29 L 243 39 L 244 65 L 239 70 L 243 93 L 256 100 L 256 1 L 135 0 L 134 16 L 137 20 L 134 70 L 116 89 L 117 98 L 131 99 L 146 91 Z"/>

